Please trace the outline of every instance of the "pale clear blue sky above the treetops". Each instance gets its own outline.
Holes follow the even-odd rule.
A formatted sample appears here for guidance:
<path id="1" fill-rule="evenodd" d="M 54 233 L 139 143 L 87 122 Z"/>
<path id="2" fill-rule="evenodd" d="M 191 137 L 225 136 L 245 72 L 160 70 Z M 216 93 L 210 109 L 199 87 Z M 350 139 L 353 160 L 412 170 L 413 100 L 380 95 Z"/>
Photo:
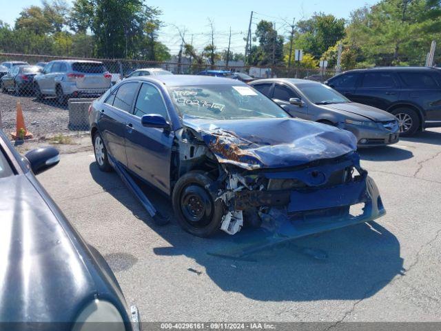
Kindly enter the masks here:
<path id="1" fill-rule="evenodd" d="M 66 0 L 72 3 L 72 0 Z M 378 0 L 147 0 L 148 6 L 163 11 L 160 19 L 165 26 L 161 28 L 159 40 L 176 54 L 181 45 L 178 29 L 185 31 L 185 41 L 201 50 L 210 41 L 209 19 L 214 23 L 214 42 L 219 50 L 227 48 L 229 28 L 232 30 L 232 51 L 244 52 L 249 17 L 254 11 L 252 30 L 260 19 L 276 23 L 279 34 L 288 35 L 289 24 L 295 19 L 308 19 L 314 12 L 334 14 L 338 18 L 348 18 L 352 10 L 371 6 Z M 11 4 L 13 3 L 13 4 Z M 0 0 L 0 20 L 14 24 L 22 8 L 40 5 L 40 0 Z"/>

